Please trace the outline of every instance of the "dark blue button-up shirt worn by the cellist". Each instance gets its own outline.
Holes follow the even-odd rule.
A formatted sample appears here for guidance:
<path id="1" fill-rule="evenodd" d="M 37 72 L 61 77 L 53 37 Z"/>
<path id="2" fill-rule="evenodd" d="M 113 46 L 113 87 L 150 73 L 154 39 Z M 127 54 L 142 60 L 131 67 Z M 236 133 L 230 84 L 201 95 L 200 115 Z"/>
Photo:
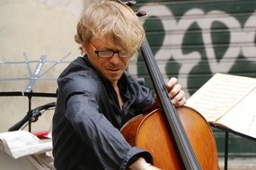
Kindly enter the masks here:
<path id="1" fill-rule="evenodd" d="M 87 56 L 69 64 L 57 80 L 57 106 L 53 117 L 53 155 L 57 170 L 126 169 L 151 155 L 131 147 L 119 129 L 154 102 L 152 93 L 125 72 L 119 80 L 124 101 L 90 64 Z"/>

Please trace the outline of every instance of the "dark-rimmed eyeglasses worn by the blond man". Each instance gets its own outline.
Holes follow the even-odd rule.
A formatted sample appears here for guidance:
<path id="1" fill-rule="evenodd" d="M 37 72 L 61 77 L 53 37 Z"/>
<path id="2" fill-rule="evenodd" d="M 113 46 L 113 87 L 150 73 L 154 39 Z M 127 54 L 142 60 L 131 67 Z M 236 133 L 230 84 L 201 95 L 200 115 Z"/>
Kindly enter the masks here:
<path id="1" fill-rule="evenodd" d="M 97 56 L 99 56 L 100 58 L 111 58 L 116 53 L 119 55 L 120 58 L 129 58 L 133 55 L 133 54 L 129 54 L 129 53 L 126 53 L 123 51 L 97 50 L 96 47 L 94 47 L 93 43 L 91 43 L 91 42 L 89 43 L 89 45 L 94 48 L 95 54 Z"/>

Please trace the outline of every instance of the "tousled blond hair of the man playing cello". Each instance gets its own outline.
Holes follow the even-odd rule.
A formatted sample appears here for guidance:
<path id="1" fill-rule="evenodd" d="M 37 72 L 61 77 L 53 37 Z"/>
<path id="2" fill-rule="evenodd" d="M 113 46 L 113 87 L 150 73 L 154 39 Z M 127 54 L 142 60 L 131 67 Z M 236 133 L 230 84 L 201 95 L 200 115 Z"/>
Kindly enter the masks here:
<path id="1" fill-rule="evenodd" d="M 84 45 L 105 36 L 122 50 L 135 53 L 145 38 L 137 15 L 120 1 L 102 1 L 87 8 L 77 23 L 75 41 Z"/>

